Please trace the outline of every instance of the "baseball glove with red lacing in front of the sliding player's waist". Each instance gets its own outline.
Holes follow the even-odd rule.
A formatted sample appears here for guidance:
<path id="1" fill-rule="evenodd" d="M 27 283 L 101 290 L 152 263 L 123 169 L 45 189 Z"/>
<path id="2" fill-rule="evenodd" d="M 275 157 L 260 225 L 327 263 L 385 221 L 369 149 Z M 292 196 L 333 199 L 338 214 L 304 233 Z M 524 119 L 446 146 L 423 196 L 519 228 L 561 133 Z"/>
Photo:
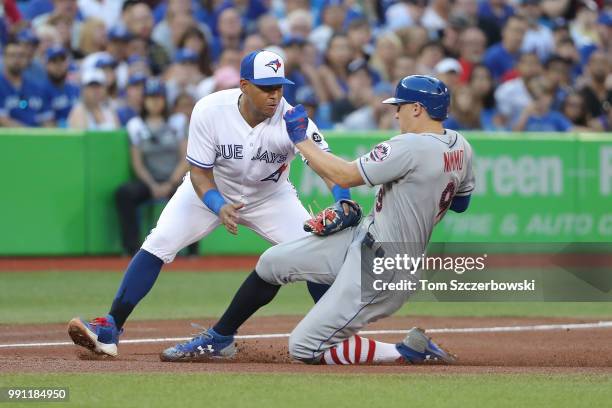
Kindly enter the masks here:
<path id="1" fill-rule="evenodd" d="M 342 204 L 348 206 L 345 214 Z M 325 237 L 343 229 L 353 227 L 361 221 L 361 207 L 353 200 L 340 200 L 331 207 L 327 207 L 314 218 L 304 223 L 304 231 Z"/>

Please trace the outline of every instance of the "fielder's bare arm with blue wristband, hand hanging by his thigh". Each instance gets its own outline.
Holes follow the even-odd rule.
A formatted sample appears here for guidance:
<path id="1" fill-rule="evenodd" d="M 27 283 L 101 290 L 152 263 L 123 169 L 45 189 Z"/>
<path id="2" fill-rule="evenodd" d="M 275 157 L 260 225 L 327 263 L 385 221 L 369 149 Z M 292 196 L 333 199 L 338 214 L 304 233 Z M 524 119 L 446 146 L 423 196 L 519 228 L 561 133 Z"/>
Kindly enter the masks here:
<path id="1" fill-rule="evenodd" d="M 219 190 L 217 190 L 212 169 L 191 166 L 189 174 L 191 184 L 193 184 L 198 197 L 212 212 L 219 216 L 221 223 L 225 225 L 225 229 L 236 235 L 238 233 L 238 221 L 240 220 L 238 210 L 244 207 L 244 204 L 231 204 L 223 199 Z"/>

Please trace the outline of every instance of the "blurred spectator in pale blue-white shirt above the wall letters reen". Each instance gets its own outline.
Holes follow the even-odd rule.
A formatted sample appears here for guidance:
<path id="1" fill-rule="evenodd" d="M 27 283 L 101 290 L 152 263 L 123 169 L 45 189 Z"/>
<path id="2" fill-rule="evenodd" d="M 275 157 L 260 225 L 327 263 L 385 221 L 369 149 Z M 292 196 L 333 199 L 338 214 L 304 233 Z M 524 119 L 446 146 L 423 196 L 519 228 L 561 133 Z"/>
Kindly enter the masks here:
<path id="1" fill-rule="evenodd" d="M 504 82 L 495 91 L 500 120 L 509 128 L 516 122 L 521 112 L 533 102 L 527 84 L 542 74 L 540 59 L 536 54 L 521 55 L 517 72 L 518 77 Z"/>

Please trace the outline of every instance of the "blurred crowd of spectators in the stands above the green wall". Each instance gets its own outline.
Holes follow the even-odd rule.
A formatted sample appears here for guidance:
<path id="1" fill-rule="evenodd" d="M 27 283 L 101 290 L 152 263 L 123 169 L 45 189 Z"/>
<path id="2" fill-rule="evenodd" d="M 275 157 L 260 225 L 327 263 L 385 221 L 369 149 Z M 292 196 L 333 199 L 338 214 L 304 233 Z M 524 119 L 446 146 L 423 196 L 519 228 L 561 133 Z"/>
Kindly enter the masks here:
<path id="1" fill-rule="evenodd" d="M 322 129 L 394 128 L 380 101 L 429 74 L 452 92 L 448 128 L 612 130 L 610 0 L 0 0 L 0 43 L 4 127 L 137 132 L 150 96 L 184 133 L 267 48 Z"/>

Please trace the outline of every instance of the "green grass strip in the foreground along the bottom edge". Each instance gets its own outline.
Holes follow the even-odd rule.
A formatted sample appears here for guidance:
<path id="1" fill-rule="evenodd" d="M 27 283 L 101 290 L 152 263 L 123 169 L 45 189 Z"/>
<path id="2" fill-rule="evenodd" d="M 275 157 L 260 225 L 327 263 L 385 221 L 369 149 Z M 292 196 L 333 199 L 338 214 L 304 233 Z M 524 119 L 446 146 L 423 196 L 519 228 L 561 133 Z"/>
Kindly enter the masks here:
<path id="1" fill-rule="evenodd" d="M 590 408 L 612 400 L 606 375 L 18 374 L 0 375 L 0 386 L 69 387 L 69 403 L 54 407 Z M 20 405 L 50 406 L 7 406 Z"/>

